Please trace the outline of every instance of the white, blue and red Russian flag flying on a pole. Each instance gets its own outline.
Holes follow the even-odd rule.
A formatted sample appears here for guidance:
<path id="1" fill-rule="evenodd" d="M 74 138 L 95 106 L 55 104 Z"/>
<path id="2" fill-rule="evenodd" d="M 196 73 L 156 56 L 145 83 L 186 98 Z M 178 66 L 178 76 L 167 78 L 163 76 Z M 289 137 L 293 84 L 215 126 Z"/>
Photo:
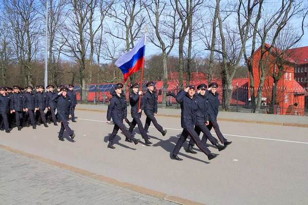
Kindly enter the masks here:
<path id="1" fill-rule="evenodd" d="M 117 61 L 115 61 L 115 66 L 118 66 L 123 75 L 124 75 L 124 83 L 126 82 L 127 78 L 140 70 L 144 64 L 144 53 L 145 53 L 145 37 L 144 36 L 139 40 L 136 46 L 133 47 L 127 53 L 124 53 Z"/>

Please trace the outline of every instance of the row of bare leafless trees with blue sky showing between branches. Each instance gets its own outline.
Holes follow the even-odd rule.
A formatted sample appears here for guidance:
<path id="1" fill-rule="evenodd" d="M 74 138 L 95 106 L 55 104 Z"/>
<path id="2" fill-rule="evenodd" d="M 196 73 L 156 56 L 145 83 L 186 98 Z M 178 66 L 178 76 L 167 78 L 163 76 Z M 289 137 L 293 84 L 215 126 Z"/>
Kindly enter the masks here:
<path id="1" fill-rule="evenodd" d="M 158 58 L 153 64 L 161 62 L 161 72 L 157 74 L 164 81 L 164 87 L 167 87 L 170 71 L 179 73 L 179 85 L 183 86 L 183 73 L 187 72 L 186 84 L 189 85 L 190 73 L 197 68 L 208 74 L 209 83 L 213 77 L 222 78 L 227 91 L 226 105 L 231 98 L 228 93 L 233 89 L 231 81 L 242 63 L 246 62 L 254 87 L 255 50 L 261 46 L 261 55 L 264 55 L 273 52 L 273 46 L 279 46 L 281 54 L 285 54 L 302 38 L 307 14 L 306 2 L 299 0 L 1 1 L 3 84 L 42 83 L 43 78 L 38 76 L 43 72 L 48 2 L 48 83 L 68 83 L 67 76 L 70 76 L 69 83 L 80 84 L 82 88 L 86 84 L 114 81 L 119 72 L 114 68 L 114 60 L 129 51 L 147 29 L 150 48 L 156 47 L 159 53 L 152 58 Z M 284 36 L 291 37 L 286 41 Z M 283 47 L 279 44 L 281 41 L 285 43 Z M 150 53 L 148 45 L 146 53 Z M 268 64 L 268 58 L 261 58 L 260 87 L 264 85 Z M 147 72 L 155 73 L 150 65 L 146 65 Z M 130 81 L 138 80 L 139 75 L 130 76 Z M 150 80 L 155 80 L 154 77 L 148 75 Z M 275 79 L 279 77 L 277 72 Z M 87 99 L 86 89 L 82 98 Z M 261 93 L 252 99 L 260 105 Z"/>

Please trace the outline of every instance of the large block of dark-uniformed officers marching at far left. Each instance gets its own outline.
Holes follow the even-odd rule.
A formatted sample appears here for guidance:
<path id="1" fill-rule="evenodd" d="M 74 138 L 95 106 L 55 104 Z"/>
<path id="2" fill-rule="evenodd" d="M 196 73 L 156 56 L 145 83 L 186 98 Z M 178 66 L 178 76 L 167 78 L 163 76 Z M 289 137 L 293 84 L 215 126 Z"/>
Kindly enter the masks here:
<path id="1" fill-rule="evenodd" d="M 63 133 L 67 131 L 71 138 L 75 134 L 68 126 L 68 119 L 74 119 L 74 108 L 77 105 L 76 93 L 73 91 L 73 85 L 69 88 L 64 85 L 57 86 L 57 92 L 54 92 L 54 86 L 48 85 L 47 92 L 44 92 L 44 86 L 38 85 L 33 92 L 32 86 L 26 89 L 14 85 L 11 87 L 0 88 L 0 129 L 10 133 L 13 124 L 19 131 L 22 130 L 23 121 L 25 126 L 32 126 L 36 129 L 36 125 L 48 124 L 53 122 L 57 126 L 57 122 L 61 122 L 61 130 L 59 132 L 59 140 L 64 141 Z M 45 110 L 47 110 L 45 114 Z M 57 110 L 57 113 L 55 114 Z"/>

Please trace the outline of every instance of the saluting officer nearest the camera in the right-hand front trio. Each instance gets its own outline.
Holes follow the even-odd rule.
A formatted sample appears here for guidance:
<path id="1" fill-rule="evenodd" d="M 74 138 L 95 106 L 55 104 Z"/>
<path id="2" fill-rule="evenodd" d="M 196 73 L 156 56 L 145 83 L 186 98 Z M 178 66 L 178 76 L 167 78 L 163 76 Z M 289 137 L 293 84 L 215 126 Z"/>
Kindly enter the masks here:
<path id="1" fill-rule="evenodd" d="M 198 148 L 207 155 L 208 160 L 217 157 L 216 154 L 212 154 L 210 150 L 203 144 L 199 138 L 199 135 L 194 130 L 196 124 L 196 113 L 198 111 L 198 105 L 195 103 L 195 86 L 189 86 L 181 91 L 177 96 L 176 100 L 181 104 L 181 127 L 183 132 L 177 142 L 177 145 L 172 152 L 171 159 L 183 160 L 178 157 L 178 153 L 186 141 L 187 137 L 190 136 L 195 141 Z"/>

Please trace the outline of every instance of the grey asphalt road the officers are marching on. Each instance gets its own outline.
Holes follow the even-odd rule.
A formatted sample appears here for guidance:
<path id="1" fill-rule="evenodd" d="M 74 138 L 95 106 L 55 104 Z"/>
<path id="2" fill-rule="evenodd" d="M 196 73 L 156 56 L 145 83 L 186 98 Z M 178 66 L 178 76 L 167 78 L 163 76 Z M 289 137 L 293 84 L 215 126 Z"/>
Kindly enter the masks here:
<path id="1" fill-rule="evenodd" d="M 210 147 L 220 154 L 210 161 L 198 149 L 198 154 L 181 149 L 184 160 L 176 161 L 170 153 L 182 131 L 180 118 L 157 117 L 168 133 L 163 137 L 151 127 L 151 147 L 125 142 L 119 132 L 111 150 L 107 140 L 113 125 L 106 124 L 106 113 L 75 115 L 78 122 L 69 124 L 76 133 L 74 142 L 67 135 L 64 142 L 57 140 L 60 126 L 50 125 L 1 132 L 0 144 L 206 204 L 308 204 L 307 128 L 221 121 L 232 145 L 221 152 Z"/>

